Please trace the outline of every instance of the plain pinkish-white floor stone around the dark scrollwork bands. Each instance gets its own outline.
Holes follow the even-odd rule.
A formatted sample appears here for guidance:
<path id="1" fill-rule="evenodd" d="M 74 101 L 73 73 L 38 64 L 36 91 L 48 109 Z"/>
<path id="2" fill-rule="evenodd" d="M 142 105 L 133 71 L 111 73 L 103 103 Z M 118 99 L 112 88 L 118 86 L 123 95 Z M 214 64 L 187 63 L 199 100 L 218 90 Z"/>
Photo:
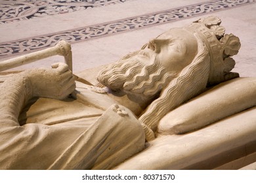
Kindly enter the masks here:
<path id="1" fill-rule="evenodd" d="M 146 1 L 146 3 L 144 2 Z M 202 0 L 190 1 L 167 1 L 167 0 L 132 0 L 125 3 L 97 7 L 66 14 L 56 14 L 53 16 L 41 17 L 37 19 L 13 22 L 10 24 L 0 24 L 0 42 L 16 41 L 45 35 L 49 33 L 57 33 L 68 29 L 76 29 L 86 25 L 95 25 L 102 22 L 110 22 L 122 18 L 139 16 L 142 14 L 152 14 L 169 10 L 171 8 L 188 7 L 197 3 L 203 3 Z M 218 5 L 216 5 L 218 7 Z M 255 8 L 256 4 L 245 4 L 241 7 L 228 8 L 217 12 L 208 12 L 207 15 L 219 16 L 225 25 L 227 32 L 236 30 L 236 36 L 241 40 L 242 48 L 240 54 L 235 56 L 236 67 L 234 71 L 240 73 L 240 76 L 256 76 L 255 54 Z M 95 16 L 96 15 L 96 16 Z M 189 15 L 189 13 L 188 13 Z M 196 14 L 197 17 L 205 15 Z M 175 20 L 166 24 L 156 24 L 143 29 L 133 31 L 125 31 L 108 37 L 99 37 L 89 41 L 75 42 L 72 44 L 74 50 L 74 72 L 78 73 L 85 69 L 111 63 L 121 58 L 128 52 L 139 49 L 145 42 L 156 37 L 163 31 L 171 27 L 181 27 L 190 24 L 195 17 L 188 17 L 181 20 Z M 41 21 L 39 21 L 41 20 Z M 45 24 L 49 26 L 45 26 Z M 246 33 L 245 33 L 246 30 Z M 138 39 L 140 37 L 140 39 Z M 98 54 L 100 52 L 100 54 Z M 9 59 L 13 56 L 2 58 L 0 61 Z M 60 61 L 62 58 L 56 56 L 44 59 L 31 65 L 24 65 L 17 68 L 27 69 L 33 67 L 50 67 L 51 63 Z M 16 70 L 17 70 L 16 69 Z"/>

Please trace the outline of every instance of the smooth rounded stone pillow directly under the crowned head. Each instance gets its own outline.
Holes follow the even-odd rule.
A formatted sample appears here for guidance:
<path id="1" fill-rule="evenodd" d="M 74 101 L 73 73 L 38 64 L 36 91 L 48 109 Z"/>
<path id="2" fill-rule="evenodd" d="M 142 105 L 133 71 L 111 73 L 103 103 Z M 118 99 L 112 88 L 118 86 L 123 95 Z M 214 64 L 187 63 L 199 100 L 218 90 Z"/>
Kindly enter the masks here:
<path id="1" fill-rule="evenodd" d="M 182 134 L 256 106 L 256 78 L 223 82 L 166 114 L 158 125 L 162 135 Z"/>

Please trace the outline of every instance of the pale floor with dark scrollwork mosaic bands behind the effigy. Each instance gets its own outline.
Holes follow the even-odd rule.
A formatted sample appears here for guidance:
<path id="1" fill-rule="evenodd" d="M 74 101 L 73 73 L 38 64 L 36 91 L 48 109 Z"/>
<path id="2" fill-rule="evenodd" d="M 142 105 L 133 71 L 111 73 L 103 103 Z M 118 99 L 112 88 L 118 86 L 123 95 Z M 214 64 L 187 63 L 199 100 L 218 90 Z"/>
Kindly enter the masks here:
<path id="1" fill-rule="evenodd" d="M 123 54 L 137 50 L 143 42 L 166 29 L 190 24 L 208 14 L 219 16 L 224 26 L 228 24 L 227 30 L 234 32 L 240 39 L 245 37 L 241 40 L 242 46 L 245 44 L 245 50 L 241 52 L 246 54 L 249 47 L 251 50 L 256 49 L 255 2 L 256 0 L 0 0 L 0 61 L 66 40 L 72 44 L 74 70 L 81 71 L 115 61 Z M 249 27 L 244 27 L 246 25 Z M 247 33 L 247 37 L 244 30 L 251 31 Z M 248 73 L 248 67 L 249 75 L 256 76 L 255 56 L 241 55 L 238 59 L 243 59 L 238 61 L 243 63 L 238 70 Z M 34 63 L 32 67 L 45 63 L 48 62 Z"/>

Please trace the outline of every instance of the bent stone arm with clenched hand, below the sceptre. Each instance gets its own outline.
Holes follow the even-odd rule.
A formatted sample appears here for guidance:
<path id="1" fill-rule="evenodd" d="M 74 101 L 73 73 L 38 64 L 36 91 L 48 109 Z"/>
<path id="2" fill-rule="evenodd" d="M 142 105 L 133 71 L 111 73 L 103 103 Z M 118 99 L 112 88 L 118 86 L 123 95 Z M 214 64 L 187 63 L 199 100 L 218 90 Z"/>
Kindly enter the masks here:
<path id="1" fill-rule="evenodd" d="M 18 125 L 22 107 L 32 97 L 63 99 L 75 90 L 74 77 L 68 65 L 56 63 L 53 69 L 31 69 L 13 75 L 1 84 L 1 124 Z"/>

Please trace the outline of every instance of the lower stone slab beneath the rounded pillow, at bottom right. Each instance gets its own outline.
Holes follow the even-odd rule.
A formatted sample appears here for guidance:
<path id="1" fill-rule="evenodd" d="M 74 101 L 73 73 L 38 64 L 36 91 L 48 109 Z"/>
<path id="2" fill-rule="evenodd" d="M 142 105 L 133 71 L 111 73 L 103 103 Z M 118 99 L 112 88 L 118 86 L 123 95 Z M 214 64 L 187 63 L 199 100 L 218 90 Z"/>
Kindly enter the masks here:
<path id="1" fill-rule="evenodd" d="M 255 152 L 255 114 L 256 108 L 251 108 L 193 133 L 160 136 L 115 169 L 215 169 L 241 157 L 245 160 Z M 254 154 L 252 162 L 255 159 Z"/>

